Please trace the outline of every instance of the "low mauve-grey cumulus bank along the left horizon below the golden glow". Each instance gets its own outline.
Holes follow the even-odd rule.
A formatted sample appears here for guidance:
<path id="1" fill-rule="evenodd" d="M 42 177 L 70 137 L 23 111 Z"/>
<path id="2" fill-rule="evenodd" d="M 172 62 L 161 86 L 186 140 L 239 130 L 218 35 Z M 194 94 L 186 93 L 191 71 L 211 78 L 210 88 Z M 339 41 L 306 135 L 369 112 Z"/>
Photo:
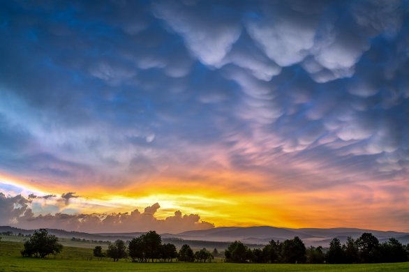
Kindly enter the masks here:
<path id="1" fill-rule="evenodd" d="M 146 232 L 156 230 L 161 233 L 178 233 L 191 229 L 214 227 L 213 224 L 200 220 L 200 216 L 197 214 L 182 216 L 181 211 L 175 211 L 174 216 L 158 219 L 155 217 L 156 211 L 161 208 L 158 203 L 146 207 L 143 213 L 135 209 L 131 213 L 67 214 L 60 212 L 34 216 L 30 206 L 33 204 L 33 199 L 36 198 L 31 196 L 31 198 L 26 199 L 21 195 L 7 197 L 0 192 L 0 225 L 13 225 L 26 229 L 49 227 L 79 232 Z M 52 202 L 48 205 L 52 205 Z"/>

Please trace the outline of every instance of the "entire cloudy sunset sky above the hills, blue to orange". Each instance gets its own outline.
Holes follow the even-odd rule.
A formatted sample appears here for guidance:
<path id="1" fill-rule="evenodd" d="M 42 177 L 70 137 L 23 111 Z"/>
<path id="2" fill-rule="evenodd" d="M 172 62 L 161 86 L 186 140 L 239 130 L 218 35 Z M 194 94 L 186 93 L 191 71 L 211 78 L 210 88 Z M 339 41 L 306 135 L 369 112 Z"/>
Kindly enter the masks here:
<path id="1" fill-rule="evenodd" d="M 409 1 L 0 1 L 0 225 L 409 232 Z"/>

